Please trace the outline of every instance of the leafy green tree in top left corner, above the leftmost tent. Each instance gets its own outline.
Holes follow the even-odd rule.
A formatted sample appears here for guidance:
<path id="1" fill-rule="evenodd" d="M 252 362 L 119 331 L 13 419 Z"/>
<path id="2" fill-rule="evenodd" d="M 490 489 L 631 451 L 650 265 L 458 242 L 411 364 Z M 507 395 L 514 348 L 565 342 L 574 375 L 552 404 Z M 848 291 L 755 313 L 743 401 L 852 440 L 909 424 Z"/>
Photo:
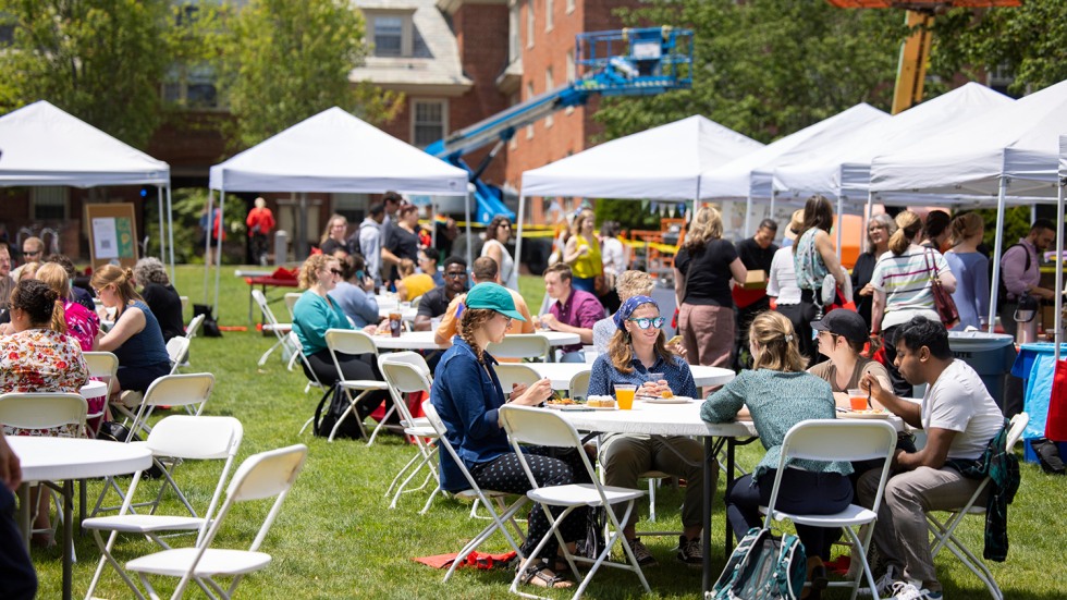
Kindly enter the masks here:
<path id="1" fill-rule="evenodd" d="M 145 148 L 159 123 L 167 0 L 0 0 L 0 112 L 48 100 Z"/>

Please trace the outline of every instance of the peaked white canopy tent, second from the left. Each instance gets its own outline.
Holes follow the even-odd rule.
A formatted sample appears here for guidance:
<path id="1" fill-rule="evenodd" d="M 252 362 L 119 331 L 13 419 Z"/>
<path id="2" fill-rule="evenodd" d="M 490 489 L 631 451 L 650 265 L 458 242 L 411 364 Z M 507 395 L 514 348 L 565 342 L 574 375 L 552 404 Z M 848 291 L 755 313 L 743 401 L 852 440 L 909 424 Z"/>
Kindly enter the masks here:
<path id="1" fill-rule="evenodd" d="M 467 173 L 334 107 L 216 164 L 211 168 L 209 210 L 213 208 L 216 189 L 220 207 L 226 192 L 380 194 L 393 189 L 402 194 L 466 196 Z M 222 258 L 221 253 L 216 254 L 218 306 Z"/>

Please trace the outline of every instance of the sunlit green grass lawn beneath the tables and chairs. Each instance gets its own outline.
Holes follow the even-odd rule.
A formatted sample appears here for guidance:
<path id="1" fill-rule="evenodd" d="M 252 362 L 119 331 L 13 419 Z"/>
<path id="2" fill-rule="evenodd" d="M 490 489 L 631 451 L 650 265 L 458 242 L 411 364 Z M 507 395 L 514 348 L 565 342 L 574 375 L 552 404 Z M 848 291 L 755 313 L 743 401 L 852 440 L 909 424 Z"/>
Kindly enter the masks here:
<path id="1" fill-rule="evenodd" d="M 180 267 L 176 287 L 194 302 L 203 297 L 203 268 Z M 233 277 L 233 268 L 222 274 L 220 292 L 222 325 L 247 325 L 248 289 Z M 213 280 L 213 278 L 212 278 Z M 543 287 L 539 278 L 524 277 L 520 291 L 530 309 L 540 306 Z M 279 315 L 285 309 L 275 305 Z M 186 315 L 188 320 L 189 315 Z M 258 318 L 258 315 L 257 315 Z M 225 332 L 221 339 L 197 338 L 193 342 L 191 368 L 186 372 L 210 371 L 217 385 L 206 414 L 231 415 L 245 428 L 241 457 L 255 452 L 306 443 L 310 455 L 296 487 L 282 507 L 281 516 L 262 546 L 273 556 L 273 563 L 241 584 L 242 598 L 505 598 L 510 572 L 461 571 L 449 584 L 442 584 L 444 573 L 413 562 L 420 555 L 456 552 L 476 535 L 485 521 L 468 518 L 469 505 L 451 499 L 438 499 L 431 511 L 420 516 L 426 500 L 422 492 L 406 495 L 396 510 L 389 510 L 383 498 L 393 475 L 414 453 L 414 448 L 394 436 L 384 436 L 372 448 L 361 442 L 327 443 L 297 431 L 315 409 L 319 393 L 303 393 L 305 378 L 299 369 L 286 371 L 277 356 L 266 368 L 256 369 L 256 360 L 273 342 L 253 329 L 248 332 Z M 746 446 L 740 454 L 741 465 L 753 465 L 762 453 L 759 444 Z M 185 489 L 193 490 L 191 500 L 204 506 L 217 477 L 213 465 L 185 464 L 180 475 L 186 476 Z M 994 576 L 1007 598 L 1063 598 L 1063 540 L 1067 525 L 1059 518 L 1063 506 L 1064 479 L 1041 473 L 1035 465 L 1022 466 L 1022 487 L 1009 513 L 1011 551 L 1008 562 L 993 563 Z M 150 489 L 155 482 L 146 482 Z M 90 499 L 100 485 L 90 485 Z M 724 564 L 722 480 L 713 514 L 713 556 L 718 576 Z M 113 497 L 112 497 L 113 498 Z M 679 528 L 682 495 L 670 487 L 659 494 L 659 523 L 655 529 Z M 172 505 L 173 506 L 173 505 Z M 172 509 L 173 510 L 173 509 Z M 247 547 L 261 523 L 262 505 L 240 506 L 230 515 L 229 527 L 217 540 L 220 546 Z M 646 524 L 646 528 L 648 524 Z M 640 528 L 640 526 L 639 526 Z M 982 519 L 969 519 L 962 537 L 972 549 L 982 548 Z M 646 570 L 646 576 L 657 598 L 697 598 L 700 589 L 699 571 L 687 568 L 673 559 L 676 538 L 645 538 L 660 562 Z M 192 543 L 191 538 L 175 538 L 173 546 Z M 74 565 L 74 593 L 84 597 L 99 558 L 90 535 L 75 536 L 78 562 Z M 503 551 L 506 543 L 494 539 L 483 550 Z M 115 555 L 120 561 L 133 559 L 154 550 L 143 539 L 120 538 Z M 34 563 L 40 578 L 40 598 L 58 598 L 62 571 L 58 549 L 35 549 Z M 988 592 L 979 580 L 948 552 L 936 560 L 937 572 L 945 585 L 946 597 L 984 598 Z M 161 591 L 173 589 L 172 583 L 160 581 Z M 193 587 L 189 597 L 201 595 Z M 589 598 L 631 598 L 641 596 L 636 577 L 628 573 L 604 571 L 597 575 L 587 591 Z M 130 598 L 130 590 L 114 572 L 107 567 L 96 596 Z M 553 597 L 567 598 L 557 592 Z M 847 598 L 843 591 L 827 598 Z"/>

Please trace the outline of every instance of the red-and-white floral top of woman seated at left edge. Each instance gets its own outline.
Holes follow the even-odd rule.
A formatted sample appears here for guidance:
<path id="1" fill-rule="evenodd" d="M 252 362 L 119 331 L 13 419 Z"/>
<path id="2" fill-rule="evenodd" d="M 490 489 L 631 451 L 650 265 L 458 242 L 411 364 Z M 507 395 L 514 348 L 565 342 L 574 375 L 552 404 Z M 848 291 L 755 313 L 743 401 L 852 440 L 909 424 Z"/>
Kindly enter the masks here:
<path id="1" fill-rule="evenodd" d="M 78 393 L 89 380 L 82 348 L 73 338 L 50 329 L 27 329 L 0 338 L 0 393 Z M 97 407 L 99 411 L 100 407 Z M 94 412 L 89 407 L 89 412 Z M 76 426 L 53 429 L 3 427 L 8 436 L 79 436 Z"/>

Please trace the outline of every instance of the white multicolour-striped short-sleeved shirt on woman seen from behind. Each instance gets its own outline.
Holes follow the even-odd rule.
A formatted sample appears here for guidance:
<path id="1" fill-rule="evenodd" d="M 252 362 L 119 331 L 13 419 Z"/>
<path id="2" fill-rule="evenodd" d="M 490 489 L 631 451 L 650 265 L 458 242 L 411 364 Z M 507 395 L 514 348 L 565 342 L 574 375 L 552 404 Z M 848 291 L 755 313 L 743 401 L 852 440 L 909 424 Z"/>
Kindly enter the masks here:
<path id="1" fill-rule="evenodd" d="M 885 292 L 883 330 L 906 323 L 917 315 L 941 320 L 934 309 L 930 284 L 935 270 L 939 273 L 951 272 L 945 257 L 937 250 L 915 244 L 900 256 L 887 252 L 879 258 L 871 275 L 871 285 Z"/>

